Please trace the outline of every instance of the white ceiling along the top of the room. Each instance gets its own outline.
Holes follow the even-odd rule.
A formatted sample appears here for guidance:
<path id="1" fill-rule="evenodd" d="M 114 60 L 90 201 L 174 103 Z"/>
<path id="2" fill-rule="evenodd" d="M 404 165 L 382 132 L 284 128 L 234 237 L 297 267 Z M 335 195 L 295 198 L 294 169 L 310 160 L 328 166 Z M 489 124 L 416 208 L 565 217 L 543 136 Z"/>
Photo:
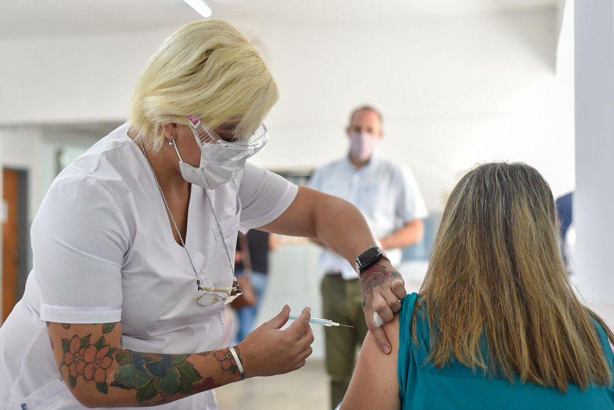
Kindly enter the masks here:
<path id="1" fill-rule="evenodd" d="M 208 0 L 212 17 L 400 20 L 554 7 L 561 0 Z M 1 0 L 0 39 L 174 28 L 198 15 L 182 0 Z"/>

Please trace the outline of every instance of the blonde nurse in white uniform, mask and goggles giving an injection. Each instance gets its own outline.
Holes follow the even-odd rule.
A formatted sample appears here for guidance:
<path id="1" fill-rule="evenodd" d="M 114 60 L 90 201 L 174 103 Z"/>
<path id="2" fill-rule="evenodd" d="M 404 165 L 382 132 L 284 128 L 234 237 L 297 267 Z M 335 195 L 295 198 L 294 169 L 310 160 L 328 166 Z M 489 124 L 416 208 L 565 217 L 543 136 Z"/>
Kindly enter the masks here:
<path id="1" fill-rule="evenodd" d="M 305 364 L 309 309 L 288 306 L 236 346 L 238 230 L 317 238 L 357 259 L 365 315 L 391 320 L 402 280 L 356 207 L 246 163 L 278 99 L 229 23 L 179 29 L 152 56 L 128 123 L 56 178 L 31 236 L 34 268 L 0 328 L 0 408 L 216 409 L 214 388 Z"/>

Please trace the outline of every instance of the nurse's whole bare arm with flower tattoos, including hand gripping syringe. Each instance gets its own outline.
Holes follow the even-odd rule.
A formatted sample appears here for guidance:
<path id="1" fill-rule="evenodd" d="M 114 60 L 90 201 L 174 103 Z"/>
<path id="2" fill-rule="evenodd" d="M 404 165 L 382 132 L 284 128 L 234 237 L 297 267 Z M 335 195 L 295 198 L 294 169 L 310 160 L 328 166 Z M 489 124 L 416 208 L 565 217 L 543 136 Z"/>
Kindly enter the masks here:
<path id="1" fill-rule="evenodd" d="M 295 322 L 298 325 L 281 331 L 287 314 L 289 309 L 285 320 L 278 315 L 235 346 L 247 377 L 287 373 L 311 354 L 309 312 Z M 121 322 L 69 327 L 48 323 L 47 331 L 61 376 L 77 400 L 90 408 L 157 406 L 241 380 L 228 348 L 194 354 L 122 349 Z M 282 354 L 285 363 L 278 363 L 271 357 L 278 352 L 263 352 L 260 346 L 289 349 L 290 354 Z"/>

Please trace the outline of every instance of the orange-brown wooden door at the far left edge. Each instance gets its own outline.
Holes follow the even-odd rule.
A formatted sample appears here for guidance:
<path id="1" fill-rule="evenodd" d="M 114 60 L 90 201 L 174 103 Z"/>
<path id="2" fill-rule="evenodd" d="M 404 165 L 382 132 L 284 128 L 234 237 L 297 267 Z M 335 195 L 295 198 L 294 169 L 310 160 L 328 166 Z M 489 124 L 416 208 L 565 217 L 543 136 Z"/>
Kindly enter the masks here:
<path id="1" fill-rule="evenodd" d="M 17 303 L 19 272 L 19 172 L 4 169 L 6 220 L 2 225 L 2 322 Z"/>

